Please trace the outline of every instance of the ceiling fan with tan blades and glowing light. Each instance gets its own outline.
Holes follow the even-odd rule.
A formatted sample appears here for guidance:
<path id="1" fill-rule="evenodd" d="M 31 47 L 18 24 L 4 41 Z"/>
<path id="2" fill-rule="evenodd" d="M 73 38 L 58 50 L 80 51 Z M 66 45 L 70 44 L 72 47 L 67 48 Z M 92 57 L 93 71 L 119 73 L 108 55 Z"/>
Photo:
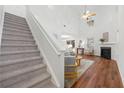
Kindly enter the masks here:
<path id="1" fill-rule="evenodd" d="M 94 17 L 96 16 L 95 12 L 91 12 L 89 10 L 87 10 L 87 7 L 84 7 L 84 13 L 81 15 L 82 19 L 84 21 L 86 21 L 86 23 L 89 26 L 93 26 L 94 25 Z"/>

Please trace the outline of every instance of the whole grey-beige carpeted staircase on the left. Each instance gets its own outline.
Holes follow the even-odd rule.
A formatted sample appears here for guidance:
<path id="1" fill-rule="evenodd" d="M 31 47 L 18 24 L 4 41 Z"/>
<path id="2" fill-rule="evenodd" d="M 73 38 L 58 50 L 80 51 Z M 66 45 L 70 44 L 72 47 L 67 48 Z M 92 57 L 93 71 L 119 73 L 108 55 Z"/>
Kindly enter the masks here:
<path id="1" fill-rule="evenodd" d="M 0 54 L 0 87 L 54 88 L 51 75 L 25 18 L 5 13 Z"/>

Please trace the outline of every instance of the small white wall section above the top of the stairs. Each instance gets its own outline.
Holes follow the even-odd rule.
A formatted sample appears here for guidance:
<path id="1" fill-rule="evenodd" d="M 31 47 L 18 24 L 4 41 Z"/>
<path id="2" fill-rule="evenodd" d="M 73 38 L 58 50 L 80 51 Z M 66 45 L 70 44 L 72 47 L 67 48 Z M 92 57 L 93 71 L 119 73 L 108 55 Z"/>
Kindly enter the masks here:
<path id="1" fill-rule="evenodd" d="M 25 17 L 25 6 L 24 5 L 5 5 L 4 9 L 6 12 Z"/>

